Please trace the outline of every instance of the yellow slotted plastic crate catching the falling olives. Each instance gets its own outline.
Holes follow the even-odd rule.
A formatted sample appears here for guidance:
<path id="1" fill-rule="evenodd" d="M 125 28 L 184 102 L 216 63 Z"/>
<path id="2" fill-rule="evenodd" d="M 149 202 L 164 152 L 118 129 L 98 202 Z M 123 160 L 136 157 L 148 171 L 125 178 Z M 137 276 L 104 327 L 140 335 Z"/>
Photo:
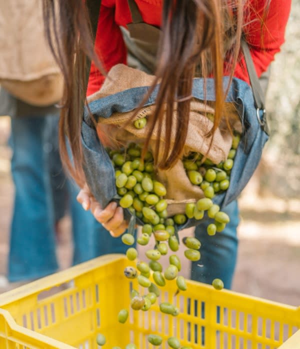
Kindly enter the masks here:
<path id="1" fill-rule="evenodd" d="M 0 349 L 96 349 L 99 332 L 107 339 L 103 349 L 133 341 L 139 349 L 152 348 L 149 333 L 175 335 L 193 349 L 274 349 L 284 341 L 280 349 L 300 348 L 300 331 L 292 335 L 300 327 L 300 308 L 193 281 L 177 296 L 173 281 L 161 292 L 161 301 L 181 308 L 177 317 L 155 305 L 131 310 L 120 324 L 117 313 L 128 308 L 131 286 L 123 276 L 126 265 L 124 256 L 106 255 L 1 294 Z"/>

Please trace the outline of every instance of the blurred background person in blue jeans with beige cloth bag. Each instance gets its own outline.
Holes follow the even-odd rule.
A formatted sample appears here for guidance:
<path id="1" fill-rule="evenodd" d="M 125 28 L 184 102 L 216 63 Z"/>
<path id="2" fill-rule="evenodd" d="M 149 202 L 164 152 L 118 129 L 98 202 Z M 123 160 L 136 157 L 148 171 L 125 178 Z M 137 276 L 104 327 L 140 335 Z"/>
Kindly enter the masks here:
<path id="1" fill-rule="evenodd" d="M 8 280 L 36 279 L 58 269 L 54 230 L 68 207 L 73 264 L 124 252 L 112 237 L 100 243 L 104 228 L 82 210 L 78 188 L 64 176 L 54 105 L 62 95 L 62 78 L 44 40 L 40 0 L 0 3 L 0 52 L 0 115 L 11 116 L 15 189 Z"/>

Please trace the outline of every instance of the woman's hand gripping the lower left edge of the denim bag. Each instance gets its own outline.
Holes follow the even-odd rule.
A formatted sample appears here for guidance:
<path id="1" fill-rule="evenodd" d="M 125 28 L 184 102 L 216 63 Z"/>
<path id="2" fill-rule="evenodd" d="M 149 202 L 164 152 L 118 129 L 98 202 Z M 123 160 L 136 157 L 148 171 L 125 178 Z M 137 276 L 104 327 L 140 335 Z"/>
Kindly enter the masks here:
<path id="1" fill-rule="evenodd" d="M 103 209 L 86 184 L 79 191 L 77 201 L 81 203 L 85 210 L 91 210 L 95 219 L 109 231 L 111 236 L 117 237 L 126 230 L 128 224 L 124 220 L 122 207 L 117 207 L 116 202 L 110 202 Z"/>

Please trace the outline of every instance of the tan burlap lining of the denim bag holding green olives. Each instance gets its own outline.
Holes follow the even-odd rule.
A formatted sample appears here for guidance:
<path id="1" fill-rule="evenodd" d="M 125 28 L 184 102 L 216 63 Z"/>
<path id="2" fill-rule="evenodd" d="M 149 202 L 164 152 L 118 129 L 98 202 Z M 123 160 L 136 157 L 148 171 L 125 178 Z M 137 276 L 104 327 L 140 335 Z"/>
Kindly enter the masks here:
<path id="1" fill-rule="evenodd" d="M 105 96 L 120 92 L 125 89 L 150 86 L 153 82 L 154 76 L 148 75 L 137 69 L 127 67 L 123 64 L 118 64 L 111 68 L 108 77 L 105 79 L 101 89 L 88 98 L 88 102 L 103 98 Z M 125 113 L 113 113 L 109 118 L 99 117 L 98 127 L 100 132 L 98 134 L 105 134 L 109 137 L 111 144 L 114 147 L 126 145 L 128 142 L 134 141 L 142 143 L 147 134 L 149 122 L 142 129 L 134 127 L 133 122 L 140 117 L 151 117 L 155 105 L 150 105 L 141 108 L 132 122 L 128 123 L 135 110 Z M 236 113 L 232 110 L 230 105 L 227 105 L 228 113 L 230 112 L 232 121 L 236 120 Z M 219 128 L 215 131 L 212 142 L 211 137 L 205 136 L 212 127 L 212 121 L 205 115 L 205 111 L 213 114 L 214 110 L 211 106 L 204 104 L 199 100 L 192 100 L 190 104 L 188 131 L 184 146 L 184 154 L 190 151 L 196 151 L 201 154 L 206 154 L 207 157 L 214 163 L 224 161 L 232 143 L 232 135 L 222 121 Z M 176 125 L 173 125 L 175 130 Z M 152 132 L 150 148 L 153 150 L 155 139 L 158 134 L 158 127 L 161 129 L 160 138 L 163 141 L 165 133 L 165 121 L 157 124 Z M 174 133 L 171 134 L 171 141 L 174 139 Z M 209 144 L 211 146 L 209 148 Z M 162 146 L 163 148 L 163 146 Z M 208 150 L 209 149 L 209 150 Z M 184 212 L 186 202 L 193 202 L 203 197 L 202 189 L 190 183 L 183 163 L 179 160 L 169 170 L 157 170 L 156 178 L 161 181 L 167 190 L 166 198 L 168 199 L 168 214 Z"/>

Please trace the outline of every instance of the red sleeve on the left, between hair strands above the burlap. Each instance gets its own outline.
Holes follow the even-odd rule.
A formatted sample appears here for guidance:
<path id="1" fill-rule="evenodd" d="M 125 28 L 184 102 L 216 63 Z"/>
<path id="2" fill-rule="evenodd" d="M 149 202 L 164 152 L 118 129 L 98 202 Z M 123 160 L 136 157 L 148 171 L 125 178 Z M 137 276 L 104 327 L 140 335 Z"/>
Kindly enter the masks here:
<path id="1" fill-rule="evenodd" d="M 109 1 L 107 1 L 107 3 L 109 3 Z M 114 15 L 114 5 L 103 6 L 101 4 L 95 38 L 95 51 L 106 71 L 108 71 L 115 64 L 126 64 L 126 47 L 120 28 L 115 23 Z M 99 90 L 104 78 L 105 77 L 99 72 L 98 68 L 92 62 L 86 94 L 90 95 Z"/>

